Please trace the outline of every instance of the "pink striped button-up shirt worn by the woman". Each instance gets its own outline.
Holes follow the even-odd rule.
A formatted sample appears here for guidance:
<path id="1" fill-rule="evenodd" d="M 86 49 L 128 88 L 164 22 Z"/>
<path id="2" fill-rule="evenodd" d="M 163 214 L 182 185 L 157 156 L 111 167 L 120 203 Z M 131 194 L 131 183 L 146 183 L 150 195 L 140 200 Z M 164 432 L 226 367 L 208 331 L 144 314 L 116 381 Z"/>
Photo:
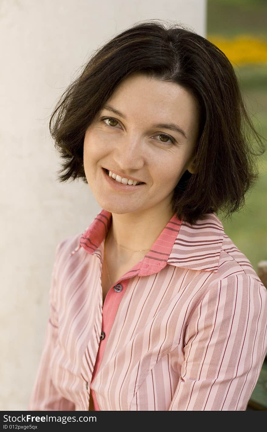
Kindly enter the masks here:
<path id="1" fill-rule="evenodd" d="M 267 353 L 267 289 L 214 213 L 169 220 L 102 306 L 102 210 L 57 245 L 28 410 L 246 410 Z"/>

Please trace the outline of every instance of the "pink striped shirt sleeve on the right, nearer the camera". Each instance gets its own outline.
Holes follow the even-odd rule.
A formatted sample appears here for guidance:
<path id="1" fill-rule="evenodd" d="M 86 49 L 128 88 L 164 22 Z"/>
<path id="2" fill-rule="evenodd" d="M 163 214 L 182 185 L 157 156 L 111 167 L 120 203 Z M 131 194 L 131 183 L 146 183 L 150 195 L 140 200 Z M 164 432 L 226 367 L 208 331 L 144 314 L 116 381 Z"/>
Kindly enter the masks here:
<path id="1" fill-rule="evenodd" d="M 187 324 L 169 411 L 245 411 L 267 353 L 267 289 L 245 273 L 228 276 Z"/>

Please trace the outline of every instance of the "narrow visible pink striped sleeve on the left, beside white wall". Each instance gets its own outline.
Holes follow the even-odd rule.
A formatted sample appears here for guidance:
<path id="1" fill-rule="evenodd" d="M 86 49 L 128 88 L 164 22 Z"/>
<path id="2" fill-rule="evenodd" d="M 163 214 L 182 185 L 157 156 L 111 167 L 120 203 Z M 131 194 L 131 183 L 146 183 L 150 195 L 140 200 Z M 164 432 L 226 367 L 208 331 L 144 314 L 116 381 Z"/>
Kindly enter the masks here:
<path id="1" fill-rule="evenodd" d="M 60 244 L 57 245 L 49 291 L 49 319 L 35 383 L 29 400 L 29 411 L 74 411 L 75 404 L 64 398 L 53 384 L 51 358 L 57 341 L 58 321 L 56 310 L 57 259 Z"/>

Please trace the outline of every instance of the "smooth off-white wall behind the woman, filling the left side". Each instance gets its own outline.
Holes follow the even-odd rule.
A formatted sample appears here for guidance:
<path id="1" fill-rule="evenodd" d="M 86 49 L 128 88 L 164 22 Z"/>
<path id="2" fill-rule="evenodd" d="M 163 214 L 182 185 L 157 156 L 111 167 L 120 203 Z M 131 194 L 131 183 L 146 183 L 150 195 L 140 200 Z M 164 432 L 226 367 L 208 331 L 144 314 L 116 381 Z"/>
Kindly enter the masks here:
<path id="1" fill-rule="evenodd" d="M 146 19 L 206 36 L 206 0 L 0 2 L 0 410 L 25 410 L 40 360 L 56 245 L 100 207 L 82 181 L 60 184 L 48 119 L 92 51 Z"/>

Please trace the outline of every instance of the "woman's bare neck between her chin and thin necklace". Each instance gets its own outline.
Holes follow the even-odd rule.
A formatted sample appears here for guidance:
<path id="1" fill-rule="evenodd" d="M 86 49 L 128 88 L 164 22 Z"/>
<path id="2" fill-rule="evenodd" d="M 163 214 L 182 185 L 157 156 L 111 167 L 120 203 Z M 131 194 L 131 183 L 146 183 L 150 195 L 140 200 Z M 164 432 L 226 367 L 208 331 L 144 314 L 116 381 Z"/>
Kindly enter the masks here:
<path id="1" fill-rule="evenodd" d="M 136 254 L 146 253 L 153 246 L 173 214 L 172 207 L 165 209 L 165 212 L 147 209 L 142 212 L 112 213 L 112 222 L 106 243 L 115 255 L 131 255 L 133 251 Z M 129 249 L 129 251 L 125 249 Z"/>

